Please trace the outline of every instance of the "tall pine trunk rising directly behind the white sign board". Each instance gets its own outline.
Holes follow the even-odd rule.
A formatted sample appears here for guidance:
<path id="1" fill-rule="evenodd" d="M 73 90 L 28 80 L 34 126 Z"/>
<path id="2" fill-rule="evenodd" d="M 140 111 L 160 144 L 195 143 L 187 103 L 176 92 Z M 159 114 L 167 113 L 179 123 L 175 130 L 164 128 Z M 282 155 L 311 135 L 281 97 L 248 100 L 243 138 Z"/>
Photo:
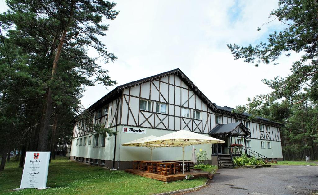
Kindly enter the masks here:
<path id="1" fill-rule="evenodd" d="M 66 28 L 67 27 L 68 26 L 66 26 Z M 64 29 L 64 31 L 62 33 L 62 37 L 61 37 L 61 40 L 59 41 L 59 46 L 58 46 L 57 52 L 56 52 L 55 57 L 54 57 L 51 80 L 54 80 L 54 76 L 55 76 L 56 71 L 57 71 L 56 70 L 57 63 L 59 61 L 59 56 L 61 54 L 64 40 L 65 40 L 65 36 L 67 33 L 66 28 Z M 43 125 L 43 128 L 41 128 L 40 135 L 39 135 L 39 147 L 38 147 L 39 151 L 47 151 L 48 150 L 47 138 L 48 138 L 51 114 L 52 114 L 52 88 L 50 87 L 49 92 L 47 94 L 47 100 L 46 100 L 46 112 L 45 112 L 45 118 L 43 121 L 44 125 Z"/>

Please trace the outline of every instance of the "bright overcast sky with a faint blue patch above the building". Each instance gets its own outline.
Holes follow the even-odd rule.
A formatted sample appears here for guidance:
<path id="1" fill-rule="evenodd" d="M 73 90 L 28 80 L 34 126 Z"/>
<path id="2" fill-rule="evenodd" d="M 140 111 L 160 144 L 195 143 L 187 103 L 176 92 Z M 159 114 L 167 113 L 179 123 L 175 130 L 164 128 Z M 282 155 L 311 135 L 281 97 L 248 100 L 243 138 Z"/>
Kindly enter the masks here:
<path id="1" fill-rule="evenodd" d="M 86 87 L 86 107 L 116 86 L 180 68 L 211 100 L 235 107 L 248 97 L 268 93 L 263 78 L 287 76 L 299 54 L 283 56 L 279 65 L 260 65 L 234 60 L 228 43 L 242 46 L 266 41 L 268 34 L 284 26 L 269 13 L 278 1 L 115 1 L 120 11 L 102 38 L 107 51 L 118 59 L 103 65 L 118 82 L 105 89 Z M 1 3 L 0 3 L 1 4 Z M 3 8 L 1 8 L 3 11 Z M 90 51 L 96 55 L 96 52 Z M 98 62 L 100 63 L 100 62 Z M 101 62 L 102 64 L 102 62 Z"/>

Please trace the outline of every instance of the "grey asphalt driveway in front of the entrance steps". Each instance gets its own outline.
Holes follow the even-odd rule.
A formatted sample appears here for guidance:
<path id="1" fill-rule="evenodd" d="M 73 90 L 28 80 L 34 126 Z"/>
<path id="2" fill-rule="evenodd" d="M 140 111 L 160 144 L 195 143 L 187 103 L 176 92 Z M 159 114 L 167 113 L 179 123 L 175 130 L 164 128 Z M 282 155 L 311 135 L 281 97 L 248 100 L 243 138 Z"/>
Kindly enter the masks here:
<path id="1" fill-rule="evenodd" d="M 188 194 L 313 194 L 318 166 L 221 169 L 208 186 Z"/>

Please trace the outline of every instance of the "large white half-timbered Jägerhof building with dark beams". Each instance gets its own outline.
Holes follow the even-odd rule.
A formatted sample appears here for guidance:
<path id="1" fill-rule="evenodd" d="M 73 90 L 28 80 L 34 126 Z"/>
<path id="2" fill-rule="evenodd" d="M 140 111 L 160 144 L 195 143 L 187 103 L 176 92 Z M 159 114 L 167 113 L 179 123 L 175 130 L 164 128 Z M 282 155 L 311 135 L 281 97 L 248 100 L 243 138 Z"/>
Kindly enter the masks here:
<path id="1" fill-rule="evenodd" d="M 194 146 L 207 152 L 208 163 L 217 164 L 217 156 L 248 155 L 282 160 L 279 123 L 247 113 L 232 113 L 230 107 L 212 103 L 180 69 L 150 76 L 116 87 L 89 107 L 92 123 L 104 124 L 117 132 L 110 139 L 90 132 L 85 123 L 74 119 L 71 160 L 127 169 L 134 160 L 149 160 L 150 151 L 141 147 L 123 147 L 122 143 L 149 135 L 161 136 L 181 129 L 225 140 L 224 144 Z M 242 144 L 233 151 L 232 144 Z M 235 148 L 236 149 L 236 148 Z M 192 146 L 185 148 L 185 160 L 191 159 Z M 157 148 L 152 160 L 181 160 L 181 148 Z"/>

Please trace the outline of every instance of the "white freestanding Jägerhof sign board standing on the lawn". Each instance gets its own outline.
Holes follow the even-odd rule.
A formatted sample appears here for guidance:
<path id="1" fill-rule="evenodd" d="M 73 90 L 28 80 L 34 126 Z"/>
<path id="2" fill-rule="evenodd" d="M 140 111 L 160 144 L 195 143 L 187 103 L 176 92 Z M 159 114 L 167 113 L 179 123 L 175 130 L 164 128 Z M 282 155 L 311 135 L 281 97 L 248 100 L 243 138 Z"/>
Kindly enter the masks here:
<path id="1" fill-rule="evenodd" d="M 51 152 L 26 152 L 20 188 L 46 188 Z"/>

